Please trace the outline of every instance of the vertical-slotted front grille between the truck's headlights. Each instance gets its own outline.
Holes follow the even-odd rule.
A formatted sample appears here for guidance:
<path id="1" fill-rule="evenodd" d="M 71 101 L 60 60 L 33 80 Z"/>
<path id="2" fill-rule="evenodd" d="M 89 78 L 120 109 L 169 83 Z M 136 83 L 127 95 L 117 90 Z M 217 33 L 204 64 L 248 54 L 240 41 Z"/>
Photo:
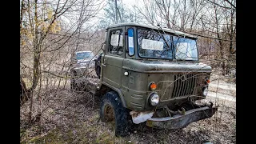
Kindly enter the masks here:
<path id="1" fill-rule="evenodd" d="M 197 82 L 197 74 L 174 74 L 174 90 L 171 97 L 193 94 Z"/>

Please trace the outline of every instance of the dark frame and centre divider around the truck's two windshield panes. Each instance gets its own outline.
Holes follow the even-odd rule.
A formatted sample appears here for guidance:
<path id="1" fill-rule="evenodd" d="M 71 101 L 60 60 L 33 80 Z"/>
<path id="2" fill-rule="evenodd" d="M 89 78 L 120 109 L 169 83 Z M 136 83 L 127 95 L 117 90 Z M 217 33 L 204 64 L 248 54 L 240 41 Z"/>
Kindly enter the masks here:
<path id="1" fill-rule="evenodd" d="M 142 56 L 140 53 L 139 53 L 139 50 L 141 49 L 140 47 L 139 47 L 139 43 L 138 43 L 138 30 L 154 30 L 156 33 L 160 33 L 160 34 L 168 34 L 168 35 L 170 35 L 170 49 L 171 49 L 171 52 L 172 52 L 172 54 L 171 54 L 171 57 L 172 58 L 158 58 L 158 57 L 147 57 L 147 56 Z M 175 61 L 181 61 L 181 62 L 184 62 L 184 61 L 191 61 L 191 62 L 198 62 L 199 61 L 199 58 L 198 58 L 198 56 L 199 56 L 199 51 L 198 51 L 198 41 L 197 41 L 197 38 L 190 38 L 190 37 L 187 37 L 187 36 L 185 36 L 185 35 L 180 35 L 180 34 L 174 34 L 174 33 L 171 33 L 171 32 L 167 32 L 167 31 L 165 31 L 165 30 L 162 30 L 161 28 L 159 28 L 158 30 L 157 29 L 150 29 L 150 28 L 147 28 L 147 27 L 141 27 L 141 26 L 138 26 L 138 27 L 136 27 L 136 38 L 137 38 L 137 51 L 138 51 L 138 57 L 139 58 L 152 58 L 152 59 L 162 59 L 162 60 L 170 60 L 170 61 L 173 61 L 173 60 L 175 60 Z M 175 56 L 176 56 L 176 54 L 175 54 L 175 50 L 174 50 L 174 36 L 175 37 L 180 37 L 180 38 L 187 38 L 187 39 L 190 39 L 190 40 L 194 40 L 195 41 L 195 46 L 197 47 L 197 58 L 196 59 L 177 59 Z M 162 36 L 161 36 L 162 37 Z"/>

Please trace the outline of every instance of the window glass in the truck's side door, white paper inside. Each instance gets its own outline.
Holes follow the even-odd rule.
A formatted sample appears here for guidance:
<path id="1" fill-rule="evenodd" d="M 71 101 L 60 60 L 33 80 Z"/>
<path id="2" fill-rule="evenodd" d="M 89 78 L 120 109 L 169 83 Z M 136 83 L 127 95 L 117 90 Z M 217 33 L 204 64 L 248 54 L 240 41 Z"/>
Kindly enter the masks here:
<path id="1" fill-rule="evenodd" d="M 110 41 L 108 54 L 122 55 L 123 32 L 122 30 L 110 30 Z"/>

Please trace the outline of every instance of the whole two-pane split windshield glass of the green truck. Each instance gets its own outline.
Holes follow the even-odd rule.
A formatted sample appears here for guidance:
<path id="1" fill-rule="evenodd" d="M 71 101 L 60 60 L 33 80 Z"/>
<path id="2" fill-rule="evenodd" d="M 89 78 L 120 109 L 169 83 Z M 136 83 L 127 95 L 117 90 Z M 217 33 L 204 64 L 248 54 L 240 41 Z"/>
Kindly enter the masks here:
<path id="1" fill-rule="evenodd" d="M 138 29 L 138 54 L 144 58 L 198 60 L 196 40 L 150 29 Z"/>

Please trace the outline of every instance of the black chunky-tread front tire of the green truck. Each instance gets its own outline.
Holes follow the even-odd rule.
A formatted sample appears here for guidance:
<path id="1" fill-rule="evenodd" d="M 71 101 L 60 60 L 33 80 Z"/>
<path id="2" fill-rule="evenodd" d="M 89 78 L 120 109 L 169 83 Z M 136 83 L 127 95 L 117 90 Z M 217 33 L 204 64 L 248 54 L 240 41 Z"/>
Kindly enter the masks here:
<path id="1" fill-rule="evenodd" d="M 113 108 L 114 119 L 108 118 L 108 116 L 105 114 L 105 109 L 109 106 Z M 114 120 L 116 136 L 124 137 L 130 134 L 132 122 L 129 112 L 130 110 L 122 106 L 121 99 L 116 92 L 107 92 L 102 97 L 100 118 L 102 122 Z"/>

